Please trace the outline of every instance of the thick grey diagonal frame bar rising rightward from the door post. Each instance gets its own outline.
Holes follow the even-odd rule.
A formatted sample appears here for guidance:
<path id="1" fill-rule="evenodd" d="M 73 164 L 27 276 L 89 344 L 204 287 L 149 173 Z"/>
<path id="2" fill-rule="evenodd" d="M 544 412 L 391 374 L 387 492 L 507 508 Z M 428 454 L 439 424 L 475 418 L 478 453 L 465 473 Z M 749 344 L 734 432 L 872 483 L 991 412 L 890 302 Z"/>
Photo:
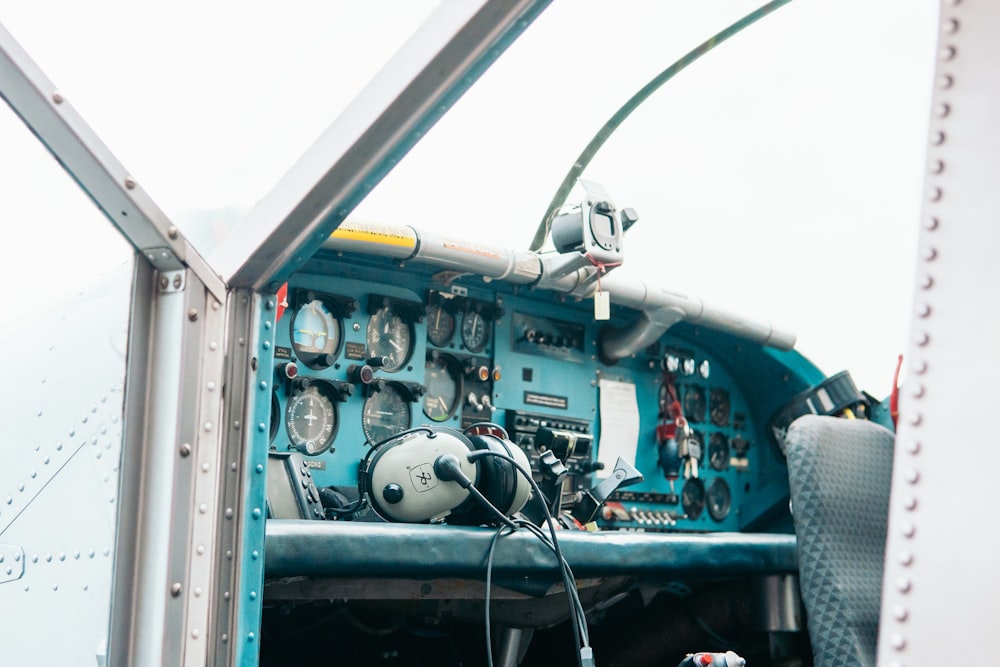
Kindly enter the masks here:
<path id="1" fill-rule="evenodd" d="M 277 290 L 547 4 L 442 3 L 212 254 L 213 266 L 230 285 Z"/>

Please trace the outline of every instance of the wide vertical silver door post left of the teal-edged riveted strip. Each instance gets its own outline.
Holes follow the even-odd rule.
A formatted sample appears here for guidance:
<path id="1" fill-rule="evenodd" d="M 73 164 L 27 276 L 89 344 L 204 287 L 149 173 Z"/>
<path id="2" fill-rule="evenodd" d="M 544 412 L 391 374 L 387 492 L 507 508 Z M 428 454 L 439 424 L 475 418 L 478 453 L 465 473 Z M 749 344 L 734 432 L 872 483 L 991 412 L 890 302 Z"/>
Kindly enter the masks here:
<path id="1" fill-rule="evenodd" d="M 193 273 L 178 291 L 162 291 L 163 280 L 152 265 L 136 262 L 109 641 L 114 665 L 205 662 L 225 319 Z"/>

